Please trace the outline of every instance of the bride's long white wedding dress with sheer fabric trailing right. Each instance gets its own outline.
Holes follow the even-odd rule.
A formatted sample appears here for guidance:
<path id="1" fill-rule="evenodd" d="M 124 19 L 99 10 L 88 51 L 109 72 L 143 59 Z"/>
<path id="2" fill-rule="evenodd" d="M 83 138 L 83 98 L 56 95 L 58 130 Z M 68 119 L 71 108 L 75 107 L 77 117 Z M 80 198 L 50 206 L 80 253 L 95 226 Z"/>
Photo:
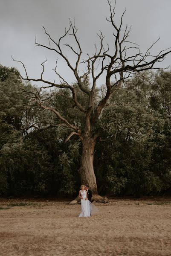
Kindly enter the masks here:
<path id="1" fill-rule="evenodd" d="M 96 208 L 95 205 L 93 205 L 88 199 L 85 200 L 86 199 L 85 189 L 83 192 L 80 190 L 80 194 L 83 199 L 81 199 L 81 213 L 79 217 L 90 217 L 94 213 L 99 212 L 99 210 Z"/>

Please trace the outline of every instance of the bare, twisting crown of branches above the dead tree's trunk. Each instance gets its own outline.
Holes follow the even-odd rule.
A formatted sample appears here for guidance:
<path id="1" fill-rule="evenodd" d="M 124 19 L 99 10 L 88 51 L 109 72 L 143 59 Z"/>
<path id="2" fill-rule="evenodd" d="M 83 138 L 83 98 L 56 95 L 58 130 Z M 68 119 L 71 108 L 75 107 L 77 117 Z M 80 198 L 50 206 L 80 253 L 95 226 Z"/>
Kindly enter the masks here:
<path id="1" fill-rule="evenodd" d="M 81 44 L 78 39 L 78 29 L 75 26 L 75 19 L 72 22 L 69 20 L 69 28 L 65 29 L 64 35 L 62 35 L 58 41 L 55 41 L 51 35 L 46 32 L 46 29 L 43 27 L 45 34 L 48 36 L 48 41 L 49 45 L 43 45 L 39 44 L 37 42 L 37 39 L 35 39 L 35 44 L 40 47 L 44 47 L 46 49 L 54 51 L 58 56 L 61 56 L 70 70 L 72 70 L 76 82 L 78 84 L 79 89 L 86 93 L 88 96 L 88 104 L 87 107 L 83 107 L 80 102 L 78 102 L 78 96 L 75 90 L 75 87 L 72 86 L 61 74 L 58 73 L 57 71 L 57 61 L 56 61 L 56 67 L 54 69 L 56 75 L 58 76 L 61 84 L 57 84 L 54 82 L 46 81 L 43 79 L 43 74 L 44 74 L 44 63 L 47 61 L 44 61 L 41 65 L 43 67 L 43 71 L 41 73 L 41 78 L 39 79 L 32 79 L 29 78 L 27 72 L 26 72 L 26 67 L 24 66 L 23 62 L 20 62 L 23 65 L 23 68 L 26 73 L 26 78 L 20 75 L 20 78 L 26 81 L 41 81 L 44 84 L 47 84 L 47 86 L 41 86 L 39 91 L 37 93 L 35 92 L 28 92 L 25 90 L 25 95 L 27 97 L 31 98 L 31 102 L 34 104 L 37 104 L 39 107 L 52 111 L 53 113 L 56 114 L 56 116 L 68 127 L 72 128 L 74 130 L 70 136 L 73 134 L 80 134 L 79 127 L 72 125 L 70 122 L 67 121 L 64 117 L 60 115 L 58 110 L 55 110 L 55 108 L 51 108 L 49 106 L 44 105 L 43 101 L 50 99 L 51 96 L 48 96 L 46 99 L 41 100 L 41 90 L 46 89 L 46 88 L 51 88 L 51 87 L 57 87 L 61 89 L 69 89 L 72 96 L 65 96 L 63 93 L 60 93 L 61 96 L 64 96 L 68 100 L 74 102 L 74 106 L 76 106 L 81 112 L 85 114 L 85 129 L 87 129 L 87 133 L 90 132 L 90 130 L 94 129 L 96 120 L 99 118 L 99 115 L 101 113 L 101 110 L 104 108 L 106 105 L 108 99 L 110 96 L 115 93 L 116 90 L 118 90 L 119 87 L 121 87 L 122 83 L 126 81 L 126 79 L 130 78 L 131 74 L 134 72 L 141 72 L 144 70 L 149 70 L 149 69 L 157 69 L 155 67 L 155 64 L 158 62 L 163 61 L 163 59 L 168 55 L 168 53 L 171 52 L 171 48 L 161 50 L 156 56 L 152 55 L 150 53 L 150 50 L 152 47 L 158 42 L 155 41 L 151 47 L 147 49 L 147 51 L 143 54 L 140 52 L 139 45 L 131 42 L 128 40 L 128 37 L 130 35 L 131 31 L 131 26 L 128 27 L 128 24 L 125 27 L 124 33 L 122 34 L 122 25 L 123 25 L 123 17 L 125 15 L 125 11 L 122 13 L 121 19 L 120 19 L 120 24 L 119 26 L 116 25 L 114 16 L 115 16 L 115 9 L 116 9 L 116 0 L 114 1 L 114 5 L 112 7 L 112 3 L 107 0 L 109 9 L 110 9 L 110 18 L 106 18 L 106 20 L 111 24 L 112 29 L 113 29 L 113 36 L 114 36 L 114 50 L 110 54 L 109 52 L 109 45 L 107 44 L 107 47 L 104 46 L 104 35 L 100 31 L 98 35 L 99 37 L 99 46 L 95 44 L 95 53 L 92 55 L 88 55 L 88 58 L 86 60 L 81 60 L 82 56 L 82 49 L 81 49 Z M 122 35 L 122 36 L 121 36 Z M 75 40 L 75 46 L 72 46 L 68 43 L 65 42 L 64 46 L 68 47 L 72 53 L 75 55 L 75 64 L 71 64 L 72 62 L 67 58 L 67 56 L 63 52 L 63 47 L 61 46 L 62 40 L 67 38 L 67 36 L 71 36 Z M 51 45 L 52 44 L 52 45 Z M 78 48 L 78 51 L 75 50 Z M 128 53 L 130 50 L 134 50 L 135 52 L 132 55 L 129 55 Z M 14 59 L 13 59 L 14 60 Z M 14 60 L 15 61 L 15 60 Z M 82 62 L 81 62 L 82 61 Z M 78 67 L 81 63 L 87 64 L 86 70 L 83 71 L 83 73 L 80 75 Z M 169 68 L 168 66 L 167 68 Z M 94 97 L 95 97 L 95 92 L 96 92 L 96 82 L 99 79 L 99 77 L 106 72 L 106 94 L 103 96 L 103 98 L 99 101 L 98 106 L 94 109 Z M 91 89 L 88 87 L 84 86 L 84 79 L 87 78 L 87 76 L 92 76 L 93 79 L 93 84 Z M 115 79 L 113 82 L 111 82 L 112 79 Z M 83 132 L 83 131 L 82 131 Z M 69 140 L 68 139 L 68 140 Z"/>

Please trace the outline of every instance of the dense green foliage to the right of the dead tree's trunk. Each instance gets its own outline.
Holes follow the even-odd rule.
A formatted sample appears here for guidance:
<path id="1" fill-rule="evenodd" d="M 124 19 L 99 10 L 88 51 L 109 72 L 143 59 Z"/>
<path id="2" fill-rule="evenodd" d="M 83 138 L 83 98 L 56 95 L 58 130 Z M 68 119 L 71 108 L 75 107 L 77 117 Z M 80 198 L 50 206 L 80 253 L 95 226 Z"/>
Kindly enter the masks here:
<path id="1" fill-rule="evenodd" d="M 135 76 L 117 91 L 100 120 L 104 143 L 99 145 L 99 154 L 103 155 L 99 165 L 107 170 L 101 180 L 106 179 L 108 192 L 118 195 L 161 193 L 171 186 L 171 140 L 165 129 L 168 121 L 160 110 L 151 108 L 154 83 L 159 77 L 143 75 Z"/>

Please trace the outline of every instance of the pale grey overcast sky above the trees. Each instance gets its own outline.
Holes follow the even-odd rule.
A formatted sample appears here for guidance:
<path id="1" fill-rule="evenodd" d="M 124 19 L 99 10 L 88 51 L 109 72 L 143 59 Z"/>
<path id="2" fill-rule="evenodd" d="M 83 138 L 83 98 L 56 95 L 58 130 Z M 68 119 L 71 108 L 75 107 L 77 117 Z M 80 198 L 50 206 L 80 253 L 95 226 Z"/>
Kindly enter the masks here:
<path id="1" fill-rule="evenodd" d="M 116 23 L 126 8 L 123 28 L 128 23 L 132 25 L 130 41 L 139 44 L 141 52 L 160 37 L 153 49 L 171 47 L 171 0 L 117 0 Z M 27 68 L 29 77 L 39 78 L 41 63 L 47 56 L 44 79 L 58 81 L 52 68 L 55 67 L 57 56 L 46 49 L 35 46 L 35 36 L 41 44 L 48 40 L 42 26 L 57 40 L 68 27 L 68 19 L 75 17 L 78 27 L 78 37 L 85 53 L 94 52 L 94 44 L 98 44 L 96 35 L 99 30 L 105 35 L 105 42 L 113 47 L 113 29 L 105 17 L 109 17 L 107 0 L 0 0 L 0 64 L 17 67 L 24 75 L 20 64 L 12 61 L 22 61 Z M 72 43 L 71 37 L 65 43 Z M 63 48 L 65 49 L 65 48 Z M 67 50 L 67 57 L 73 63 L 74 57 Z M 158 67 L 171 64 L 171 54 Z M 59 59 L 58 72 L 67 81 L 74 81 L 64 61 Z M 104 78 L 99 84 L 104 83 Z"/>

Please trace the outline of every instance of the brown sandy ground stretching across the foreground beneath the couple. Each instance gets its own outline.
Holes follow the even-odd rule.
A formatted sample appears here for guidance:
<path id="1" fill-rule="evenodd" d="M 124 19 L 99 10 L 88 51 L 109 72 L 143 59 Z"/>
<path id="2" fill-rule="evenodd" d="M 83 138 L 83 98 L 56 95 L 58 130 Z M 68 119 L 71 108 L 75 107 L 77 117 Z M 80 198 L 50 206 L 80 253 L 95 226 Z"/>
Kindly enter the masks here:
<path id="1" fill-rule="evenodd" d="M 96 207 L 78 218 L 64 201 L 0 199 L 0 256 L 171 256 L 171 198 Z"/>

